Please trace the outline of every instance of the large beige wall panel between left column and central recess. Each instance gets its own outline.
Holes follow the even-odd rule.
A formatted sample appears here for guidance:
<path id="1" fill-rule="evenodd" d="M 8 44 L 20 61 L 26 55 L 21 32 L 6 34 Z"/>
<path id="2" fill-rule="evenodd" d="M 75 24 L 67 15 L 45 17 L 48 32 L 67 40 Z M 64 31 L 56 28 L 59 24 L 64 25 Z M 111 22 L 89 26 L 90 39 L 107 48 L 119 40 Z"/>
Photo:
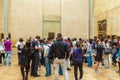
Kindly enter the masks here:
<path id="1" fill-rule="evenodd" d="M 11 0 L 11 38 L 42 35 L 42 0 Z"/>

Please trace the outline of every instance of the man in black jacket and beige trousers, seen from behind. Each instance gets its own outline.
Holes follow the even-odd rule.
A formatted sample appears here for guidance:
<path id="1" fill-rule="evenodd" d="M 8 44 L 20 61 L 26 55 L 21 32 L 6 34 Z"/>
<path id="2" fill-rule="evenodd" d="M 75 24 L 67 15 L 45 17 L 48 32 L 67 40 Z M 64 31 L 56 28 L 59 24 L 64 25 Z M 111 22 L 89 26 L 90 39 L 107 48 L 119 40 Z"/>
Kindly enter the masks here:
<path id="1" fill-rule="evenodd" d="M 61 65 L 65 80 L 68 79 L 68 72 L 66 70 L 66 60 L 69 57 L 70 46 L 68 46 L 65 42 L 63 42 L 62 34 L 58 33 L 57 41 L 54 42 L 50 48 L 50 56 L 54 59 L 55 66 L 55 80 L 59 80 L 58 72 L 59 65 Z"/>

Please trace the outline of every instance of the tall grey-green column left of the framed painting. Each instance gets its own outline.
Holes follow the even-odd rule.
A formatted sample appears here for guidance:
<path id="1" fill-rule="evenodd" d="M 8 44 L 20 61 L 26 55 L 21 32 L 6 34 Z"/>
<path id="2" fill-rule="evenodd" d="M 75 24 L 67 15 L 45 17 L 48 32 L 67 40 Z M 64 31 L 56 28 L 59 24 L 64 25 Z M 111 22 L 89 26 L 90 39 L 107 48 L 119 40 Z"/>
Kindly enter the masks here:
<path id="1" fill-rule="evenodd" d="M 94 0 L 89 0 L 89 38 L 94 38 L 94 25 L 93 25 L 93 19 L 94 19 Z"/>

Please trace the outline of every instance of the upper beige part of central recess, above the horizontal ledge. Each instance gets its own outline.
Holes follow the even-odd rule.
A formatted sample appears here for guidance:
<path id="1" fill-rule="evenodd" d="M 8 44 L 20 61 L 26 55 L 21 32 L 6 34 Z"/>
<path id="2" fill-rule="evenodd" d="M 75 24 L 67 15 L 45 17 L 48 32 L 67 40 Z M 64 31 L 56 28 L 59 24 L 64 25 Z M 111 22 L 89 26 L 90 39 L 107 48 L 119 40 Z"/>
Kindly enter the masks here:
<path id="1" fill-rule="evenodd" d="M 43 19 L 60 20 L 61 0 L 43 0 Z"/>

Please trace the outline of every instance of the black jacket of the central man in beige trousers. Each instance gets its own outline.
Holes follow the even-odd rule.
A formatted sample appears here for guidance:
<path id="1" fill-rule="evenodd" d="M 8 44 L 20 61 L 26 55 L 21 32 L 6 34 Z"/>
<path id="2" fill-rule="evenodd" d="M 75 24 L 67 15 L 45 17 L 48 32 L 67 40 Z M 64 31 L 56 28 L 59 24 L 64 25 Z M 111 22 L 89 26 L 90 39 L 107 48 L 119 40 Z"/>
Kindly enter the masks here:
<path id="1" fill-rule="evenodd" d="M 70 46 L 62 40 L 57 40 L 50 48 L 50 58 L 67 59 L 70 53 Z"/>

